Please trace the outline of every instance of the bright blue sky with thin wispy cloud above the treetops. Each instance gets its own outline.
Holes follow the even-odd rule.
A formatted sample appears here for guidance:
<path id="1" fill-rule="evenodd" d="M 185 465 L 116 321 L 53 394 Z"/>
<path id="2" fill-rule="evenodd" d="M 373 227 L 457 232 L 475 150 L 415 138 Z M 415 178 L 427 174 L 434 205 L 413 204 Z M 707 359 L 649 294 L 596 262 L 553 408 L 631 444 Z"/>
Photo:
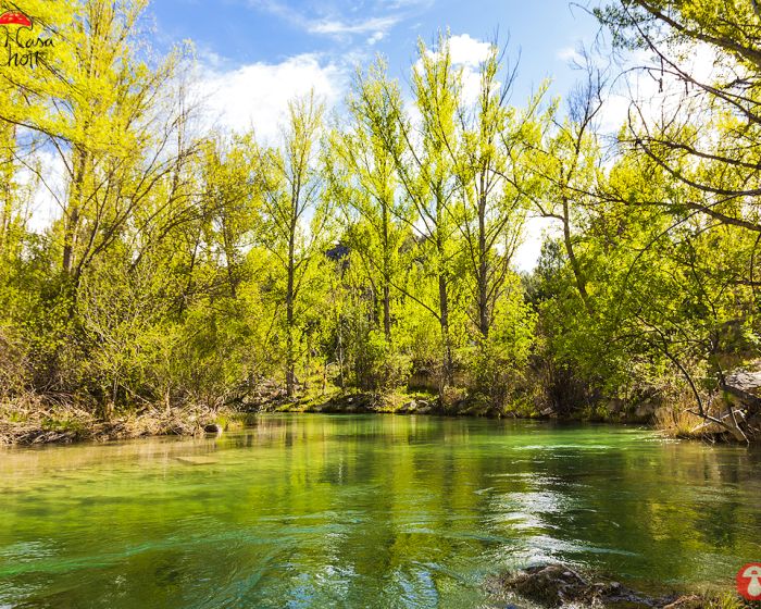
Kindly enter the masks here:
<path id="1" fill-rule="evenodd" d="M 499 30 L 502 41 L 510 37 L 510 55 L 520 52 L 521 97 L 545 77 L 553 78 L 553 92 L 566 91 L 575 79 L 570 51 L 597 32 L 595 20 L 565 0 L 154 0 L 150 13 L 163 41 L 192 39 L 201 60 L 221 71 L 307 55 L 350 71 L 380 52 L 392 75 L 407 77 L 417 37 L 432 40 L 449 27 L 490 40 Z"/>

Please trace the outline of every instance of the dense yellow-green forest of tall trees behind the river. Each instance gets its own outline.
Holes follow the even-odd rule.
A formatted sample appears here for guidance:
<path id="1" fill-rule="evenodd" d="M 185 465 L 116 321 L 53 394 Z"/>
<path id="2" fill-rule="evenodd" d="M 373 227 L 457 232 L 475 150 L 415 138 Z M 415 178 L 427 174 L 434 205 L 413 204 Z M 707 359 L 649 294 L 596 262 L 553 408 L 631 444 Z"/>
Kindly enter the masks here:
<path id="1" fill-rule="evenodd" d="M 336 110 L 304 91 L 279 141 L 204 126 L 192 48 L 157 57 L 146 9 L 29 0 L 0 28 L 7 425 L 359 395 L 753 434 L 726 378 L 761 355 L 756 2 L 591 9 L 564 99 L 519 99 L 497 40 L 463 78 L 442 33 L 409 82 L 378 58 Z"/>

